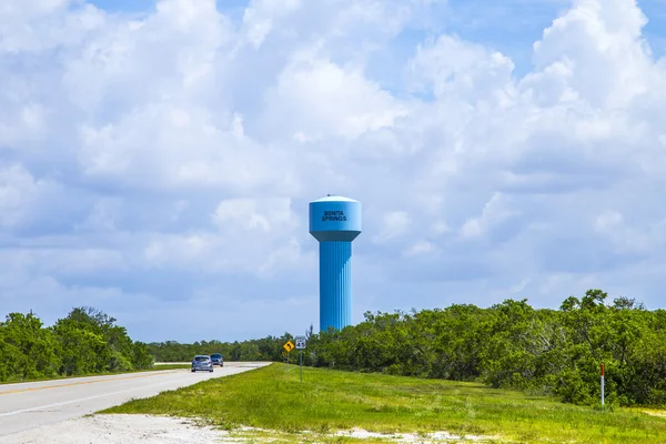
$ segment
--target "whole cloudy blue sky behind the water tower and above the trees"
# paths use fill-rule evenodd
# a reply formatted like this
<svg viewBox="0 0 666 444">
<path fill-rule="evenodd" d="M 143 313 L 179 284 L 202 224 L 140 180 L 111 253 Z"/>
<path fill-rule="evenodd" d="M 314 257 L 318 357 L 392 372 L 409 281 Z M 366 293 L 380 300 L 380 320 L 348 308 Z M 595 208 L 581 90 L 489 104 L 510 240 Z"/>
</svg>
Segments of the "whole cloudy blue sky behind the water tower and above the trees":
<svg viewBox="0 0 666 444">
<path fill-rule="evenodd" d="M 329 193 L 363 204 L 354 323 L 666 307 L 663 0 L 2 3 L 0 314 L 317 329 Z"/>
</svg>

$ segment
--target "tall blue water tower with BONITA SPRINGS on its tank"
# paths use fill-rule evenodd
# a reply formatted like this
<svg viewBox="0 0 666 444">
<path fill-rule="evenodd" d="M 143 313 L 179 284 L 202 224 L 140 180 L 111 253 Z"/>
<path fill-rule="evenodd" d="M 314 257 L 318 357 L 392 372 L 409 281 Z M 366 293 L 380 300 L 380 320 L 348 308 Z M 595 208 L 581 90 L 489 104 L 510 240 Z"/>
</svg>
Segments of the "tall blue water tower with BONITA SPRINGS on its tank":
<svg viewBox="0 0 666 444">
<path fill-rule="evenodd" d="M 361 202 L 340 195 L 310 202 L 310 234 L 320 242 L 320 330 L 352 323 L 352 241 L 361 234 Z"/>
</svg>

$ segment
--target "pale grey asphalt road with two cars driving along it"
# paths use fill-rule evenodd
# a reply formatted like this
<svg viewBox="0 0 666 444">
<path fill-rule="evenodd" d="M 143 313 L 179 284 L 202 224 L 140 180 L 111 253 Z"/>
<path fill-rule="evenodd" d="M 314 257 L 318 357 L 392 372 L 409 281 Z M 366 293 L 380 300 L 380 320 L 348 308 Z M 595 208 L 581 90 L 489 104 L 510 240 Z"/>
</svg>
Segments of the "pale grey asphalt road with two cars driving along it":
<svg viewBox="0 0 666 444">
<path fill-rule="evenodd" d="M 182 369 L 3 384 L 0 385 L 0 442 L 2 436 L 83 416 L 131 398 L 154 396 L 165 390 L 268 364 L 226 362 L 213 373 Z"/>
</svg>

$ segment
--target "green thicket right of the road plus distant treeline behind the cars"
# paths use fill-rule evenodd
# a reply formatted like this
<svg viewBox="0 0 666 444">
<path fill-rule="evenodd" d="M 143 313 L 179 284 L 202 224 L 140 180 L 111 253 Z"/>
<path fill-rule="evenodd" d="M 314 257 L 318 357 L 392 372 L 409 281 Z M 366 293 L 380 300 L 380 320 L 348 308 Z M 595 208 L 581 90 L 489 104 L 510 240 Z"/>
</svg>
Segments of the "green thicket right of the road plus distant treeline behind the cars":
<svg viewBox="0 0 666 444">
<path fill-rule="evenodd" d="M 488 309 L 451 305 L 411 313 L 365 313 L 341 332 L 306 336 L 305 365 L 393 375 L 480 381 L 495 389 L 598 404 L 599 367 L 606 367 L 606 403 L 666 405 L 666 311 L 589 290 L 559 310 L 526 300 Z M 293 336 L 242 343 L 149 344 L 159 361 L 220 351 L 229 361 L 280 361 Z M 295 353 L 292 352 L 292 356 Z M 292 357 L 295 361 L 295 356 Z"/>
</svg>

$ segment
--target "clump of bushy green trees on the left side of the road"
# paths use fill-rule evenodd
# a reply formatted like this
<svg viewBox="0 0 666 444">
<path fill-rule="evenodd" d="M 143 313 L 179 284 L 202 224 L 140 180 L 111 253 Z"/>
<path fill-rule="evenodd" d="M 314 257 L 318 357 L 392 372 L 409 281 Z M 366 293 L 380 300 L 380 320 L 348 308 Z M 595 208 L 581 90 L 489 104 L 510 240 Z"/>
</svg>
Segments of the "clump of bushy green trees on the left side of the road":
<svg viewBox="0 0 666 444">
<path fill-rule="evenodd" d="M 149 369 L 148 346 L 130 339 L 115 319 L 73 309 L 52 326 L 32 312 L 0 322 L 0 382 Z"/>
</svg>

